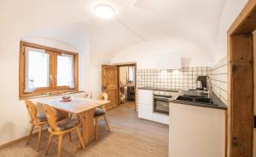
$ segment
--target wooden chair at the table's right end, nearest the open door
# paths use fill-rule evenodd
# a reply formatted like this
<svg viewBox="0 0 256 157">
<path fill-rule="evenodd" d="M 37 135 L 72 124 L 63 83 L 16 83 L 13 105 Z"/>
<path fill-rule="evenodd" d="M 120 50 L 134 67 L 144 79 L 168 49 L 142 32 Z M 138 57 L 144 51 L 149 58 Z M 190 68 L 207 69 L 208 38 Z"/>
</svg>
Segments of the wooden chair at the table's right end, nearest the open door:
<svg viewBox="0 0 256 157">
<path fill-rule="evenodd" d="M 100 96 L 98 96 L 98 100 L 103 100 L 104 96 L 101 94 Z M 100 118 L 104 118 L 106 125 L 107 125 L 107 130 L 110 131 L 109 125 L 108 125 L 108 121 L 106 118 L 106 112 L 107 109 L 105 106 L 102 106 L 102 108 L 96 108 L 95 112 L 94 112 L 94 118 L 95 118 L 95 131 L 96 131 L 96 140 L 98 140 L 99 137 L 99 133 L 98 133 L 98 119 Z"/>
</svg>

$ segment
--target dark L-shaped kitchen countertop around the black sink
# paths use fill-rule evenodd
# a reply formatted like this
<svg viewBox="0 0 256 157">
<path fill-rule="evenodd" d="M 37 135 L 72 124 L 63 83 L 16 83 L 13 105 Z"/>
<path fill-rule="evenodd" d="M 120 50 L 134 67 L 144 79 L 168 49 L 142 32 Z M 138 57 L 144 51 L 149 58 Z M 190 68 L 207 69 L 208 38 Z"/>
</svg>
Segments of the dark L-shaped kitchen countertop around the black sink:
<svg viewBox="0 0 256 157">
<path fill-rule="evenodd" d="M 190 95 L 190 96 L 205 96 L 204 93 L 198 92 L 197 90 L 173 90 L 173 89 L 165 89 L 165 88 L 154 88 L 150 86 L 140 87 L 139 90 L 158 90 L 158 91 L 171 91 L 176 92 L 175 96 L 172 96 L 172 99 L 170 102 L 179 103 L 181 105 L 190 105 L 190 106 L 196 106 L 196 107 L 203 107 L 203 108 L 216 108 L 216 109 L 227 109 L 227 106 L 218 98 L 218 96 L 215 95 L 214 92 L 212 92 L 212 104 L 210 103 L 204 103 L 204 102 L 190 102 L 190 101 L 183 101 L 183 100 L 177 100 L 177 96 L 184 96 L 184 95 Z"/>
</svg>

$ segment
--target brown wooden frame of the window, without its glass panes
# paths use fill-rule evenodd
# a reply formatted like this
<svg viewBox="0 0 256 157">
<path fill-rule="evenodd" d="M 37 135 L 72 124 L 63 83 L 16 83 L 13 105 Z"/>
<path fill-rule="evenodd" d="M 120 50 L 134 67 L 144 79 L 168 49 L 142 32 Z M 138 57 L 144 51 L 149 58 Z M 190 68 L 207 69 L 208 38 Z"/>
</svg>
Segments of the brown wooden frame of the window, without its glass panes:
<svg viewBox="0 0 256 157">
<path fill-rule="evenodd" d="M 33 92 L 25 92 L 26 86 L 26 47 L 34 49 L 44 49 L 45 53 L 49 54 L 49 87 L 37 88 Z M 57 86 L 57 55 L 67 54 L 73 55 L 73 82 L 74 88 L 70 89 L 68 86 Z M 20 69 L 19 69 L 19 96 L 20 99 L 32 98 L 33 96 L 44 96 L 46 93 L 54 95 L 54 93 L 61 93 L 67 91 L 79 91 L 79 54 L 62 49 L 50 48 L 47 46 L 27 43 L 20 41 Z"/>
</svg>

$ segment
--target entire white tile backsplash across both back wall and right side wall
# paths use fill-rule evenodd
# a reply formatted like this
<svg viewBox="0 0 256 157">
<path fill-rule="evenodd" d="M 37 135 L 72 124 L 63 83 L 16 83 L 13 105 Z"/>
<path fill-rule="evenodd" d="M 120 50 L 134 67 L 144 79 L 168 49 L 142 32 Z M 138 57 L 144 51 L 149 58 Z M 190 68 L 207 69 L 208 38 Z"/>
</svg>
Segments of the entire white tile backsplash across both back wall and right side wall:
<svg viewBox="0 0 256 157">
<path fill-rule="evenodd" d="M 188 90 L 196 88 L 196 78 L 207 75 L 212 78 L 212 91 L 227 104 L 227 58 L 213 67 L 183 67 L 182 69 L 137 69 L 137 88 Z"/>
</svg>

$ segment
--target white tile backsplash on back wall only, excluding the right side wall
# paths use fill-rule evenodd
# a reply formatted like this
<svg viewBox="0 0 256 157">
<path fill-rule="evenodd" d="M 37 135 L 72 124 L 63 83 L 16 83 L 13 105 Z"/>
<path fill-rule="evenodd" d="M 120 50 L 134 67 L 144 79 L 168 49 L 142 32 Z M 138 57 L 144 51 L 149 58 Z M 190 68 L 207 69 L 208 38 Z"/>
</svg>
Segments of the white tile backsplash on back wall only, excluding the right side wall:
<svg viewBox="0 0 256 157">
<path fill-rule="evenodd" d="M 137 69 L 137 87 L 145 84 L 154 88 L 188 90 L 196 88 L 196 78 L 211 75 L 212 67 L 184 67 L 182 69 Z"/>
</svg>

